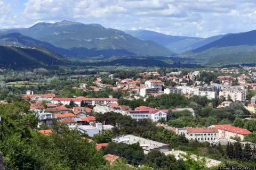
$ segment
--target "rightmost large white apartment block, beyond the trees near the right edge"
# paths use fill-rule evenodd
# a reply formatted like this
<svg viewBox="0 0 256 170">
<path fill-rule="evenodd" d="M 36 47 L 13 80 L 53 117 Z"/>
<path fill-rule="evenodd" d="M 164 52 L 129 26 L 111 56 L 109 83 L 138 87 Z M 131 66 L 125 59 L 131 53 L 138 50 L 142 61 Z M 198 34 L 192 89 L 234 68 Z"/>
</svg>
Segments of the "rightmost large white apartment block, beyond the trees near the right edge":
<svg viewBox="0 0 256 170">
<path fill-rule="evenodd" d="M 247 90 L 223 90 L 219 92 L 219 96 L 224 96 L 226 99 L 228 95 L 233 101 L 245 101 Z"/>
</svg>

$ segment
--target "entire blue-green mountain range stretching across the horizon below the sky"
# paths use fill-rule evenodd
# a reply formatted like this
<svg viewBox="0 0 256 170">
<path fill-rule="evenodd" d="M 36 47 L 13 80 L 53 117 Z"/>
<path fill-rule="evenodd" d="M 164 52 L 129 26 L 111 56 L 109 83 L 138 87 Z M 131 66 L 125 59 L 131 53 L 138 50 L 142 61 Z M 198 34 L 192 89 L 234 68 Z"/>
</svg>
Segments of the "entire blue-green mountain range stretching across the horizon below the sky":
<svg viewBox="0 0 256 170">
<path fill-rule="evenodd" d="M 179 55 L 175 57 L 189 58 L 188 63 L 194 60 L 211 65 L 239 64 L 244 63 L 245 59 L 254 61 L 256 30 L 198 38 L 169 36 L 148 30 L 120 31 L 102 27 L 100 24 L 71 21 L 41 22 L 30 28 L 0 29 L 0 45 L 3 45 L 0 51 L 2 63 L 14 63 L 24 57 L 25 61 L 45 61 L 43 58 L 38 60 L 39 58 L 31 56 L 37 50 L 39 56 L 49 54 L 49 60 L 57 61 L 63 60 L 62 56 L 138 57 L 174 56 L 177 53 Z M 13 56 L 8 58 L 9 53 L 6 50 L 12 50 L 13 54 L 18 53 L 18 60 L 12 58 Z"/>
</svg>

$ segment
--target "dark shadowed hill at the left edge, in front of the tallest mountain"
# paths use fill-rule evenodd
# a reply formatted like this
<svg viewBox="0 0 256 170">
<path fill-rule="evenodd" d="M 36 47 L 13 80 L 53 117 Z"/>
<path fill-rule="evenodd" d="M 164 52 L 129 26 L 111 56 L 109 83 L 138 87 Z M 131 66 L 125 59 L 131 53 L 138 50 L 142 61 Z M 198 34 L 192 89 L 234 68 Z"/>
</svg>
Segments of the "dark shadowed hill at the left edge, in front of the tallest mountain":
<svg viewBox="0 0 256 170">
<path fill-rule="evenodd" d="M 0 46 L 0 64 L 51 65 L 61 64 L 64 57 L 39 46 Z"/>
</svg>

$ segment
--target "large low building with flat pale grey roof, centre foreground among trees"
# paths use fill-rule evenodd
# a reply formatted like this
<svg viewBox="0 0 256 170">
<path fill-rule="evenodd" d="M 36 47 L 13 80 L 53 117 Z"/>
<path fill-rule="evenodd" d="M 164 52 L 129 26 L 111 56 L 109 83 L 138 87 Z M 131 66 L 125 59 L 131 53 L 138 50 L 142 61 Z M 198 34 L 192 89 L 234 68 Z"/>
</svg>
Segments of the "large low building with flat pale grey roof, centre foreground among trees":
<svg viewBox="0 0 256 170">
<path fill-rule="evenodd" d="M 134 136 L 131 134 L 122 135 L 122 136 L 113 138 L 112 140 L 117 143 L 123 142 L 123 143 L 127 143 L 127 144 L 134 144 L 134 143 L 139 142 L 139 144 L 142 147 L 142 149 L 144 150 L 145 154 L 147 154 L 148 152 L 150 152 L 151 150 L 154 150 L 154 149 L 159 150 L 161 152 L 169 151 L 169 145 L 167 145 L 165 143 L 156 142 L 154 140 L 137 137 L 137 136 Z"/>
</svg>

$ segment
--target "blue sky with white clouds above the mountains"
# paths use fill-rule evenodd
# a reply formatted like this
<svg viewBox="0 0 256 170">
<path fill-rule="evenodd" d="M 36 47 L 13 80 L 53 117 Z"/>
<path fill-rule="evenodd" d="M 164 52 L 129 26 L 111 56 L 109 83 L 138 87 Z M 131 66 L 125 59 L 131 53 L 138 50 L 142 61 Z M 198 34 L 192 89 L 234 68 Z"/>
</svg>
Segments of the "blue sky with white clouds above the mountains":
<svg viewBox="0 0 256 170">
<path fill-rule="evenodd" d="M 256 0 L 0 0 L 0 28 L 62 20 L 210 37 L 256 29 Z"/>
</svg>

